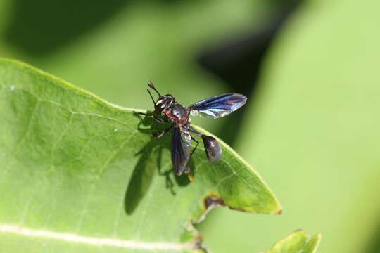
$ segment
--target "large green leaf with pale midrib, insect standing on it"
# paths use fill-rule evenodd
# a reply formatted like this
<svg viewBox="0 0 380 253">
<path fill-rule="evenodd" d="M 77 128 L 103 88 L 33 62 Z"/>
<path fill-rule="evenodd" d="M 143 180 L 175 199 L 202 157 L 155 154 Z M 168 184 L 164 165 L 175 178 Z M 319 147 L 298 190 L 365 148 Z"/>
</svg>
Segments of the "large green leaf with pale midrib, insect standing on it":
<svg viewBox="0 0 380 253">
<path fill-rule="evenodd" d="M 184 251 L 217 204 L 281 212 L 222 141 L 216 164 L 196 150 L 189 183 L 172 173 L 170 136 L 151 137 L 162 126 L 23 63 L 0 60 L 0 117 L 2 252 Z"/>
</svg>

